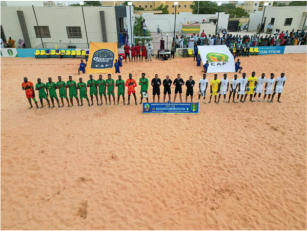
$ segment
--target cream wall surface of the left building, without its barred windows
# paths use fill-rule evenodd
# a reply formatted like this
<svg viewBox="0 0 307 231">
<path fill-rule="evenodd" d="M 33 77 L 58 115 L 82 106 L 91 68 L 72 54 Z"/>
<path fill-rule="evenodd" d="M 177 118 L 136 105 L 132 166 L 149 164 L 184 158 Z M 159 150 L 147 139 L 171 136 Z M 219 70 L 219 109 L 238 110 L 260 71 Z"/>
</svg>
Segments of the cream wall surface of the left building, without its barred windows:
<svg viewBox="0 0 307 231">
<path fill-rule="evenodd" d="M 49 27 L 51 37 L 43 38 L 44 43 L 87 43 L 81 7 L 34 7 L 34 9 L 38 25 Z M 84 7 L 83 9 L 89 42 L 103 41 L 99 11 L 105 12 L 108 42 L 117 41 L 114 7 Z M 7 39 L 10 36 L 16 41 L 19 38 L 24 39 L 16 13 L 17 10 L 24 12 L 31 45 L 35 48 L 42 42 L 35 35 L 36 21 L 32 7 L 1 7 L 1 25 L 4 33 Z M 127 17 L 126 24 L 129 25 L 130 29 L 130 17 Z M 68 38 L 67 26 L 81 27 L 82 38 Z"/>
</svg>

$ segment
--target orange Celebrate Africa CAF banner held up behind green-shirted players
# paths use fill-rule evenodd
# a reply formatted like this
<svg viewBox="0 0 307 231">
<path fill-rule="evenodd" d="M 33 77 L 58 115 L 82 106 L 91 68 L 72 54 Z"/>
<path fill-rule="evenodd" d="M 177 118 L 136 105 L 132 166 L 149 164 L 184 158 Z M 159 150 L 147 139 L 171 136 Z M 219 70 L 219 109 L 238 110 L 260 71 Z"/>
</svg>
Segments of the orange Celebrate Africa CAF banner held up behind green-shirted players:
<svg viewBox="0 0 307 231">
<path fill-rule="evenodd" d="M 118 59 L 117 43 L 92 43 L 85 69 L 86 73 L 115 73 L 115 59 Z"/>
</svg>

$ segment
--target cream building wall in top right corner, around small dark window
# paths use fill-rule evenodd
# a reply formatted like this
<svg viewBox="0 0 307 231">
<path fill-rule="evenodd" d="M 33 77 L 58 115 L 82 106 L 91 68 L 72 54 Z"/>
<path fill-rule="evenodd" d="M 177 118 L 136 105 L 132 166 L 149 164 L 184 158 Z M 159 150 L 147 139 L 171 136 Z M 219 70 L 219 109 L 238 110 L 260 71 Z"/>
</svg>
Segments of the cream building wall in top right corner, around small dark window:
<svg viewBox="0 0 307 231">
<path fill-rule="evenodd" d="M 264 17 L 267 17 L 264 28 L 267 28 L 268 24 L 271 23 L 271 18 L 275 18 L 275 23 L 271 27 L 273 32 L 275 29 L 288 30 L 289 32 L 293 29 L 295 31 L 301 30 L 306 11 L 306 7 L 267 7 L 264 12 Z M 285 18 L 293 18 L 291 26 L 284 26 Z"/>
</svg>

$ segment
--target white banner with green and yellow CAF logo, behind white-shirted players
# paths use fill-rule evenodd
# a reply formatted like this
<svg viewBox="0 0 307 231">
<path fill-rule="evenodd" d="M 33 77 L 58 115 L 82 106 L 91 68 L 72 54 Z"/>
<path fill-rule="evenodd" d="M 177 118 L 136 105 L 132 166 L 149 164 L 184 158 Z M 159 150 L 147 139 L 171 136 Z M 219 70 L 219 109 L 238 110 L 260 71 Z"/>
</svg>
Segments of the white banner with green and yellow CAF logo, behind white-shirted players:
<svg viewBox="0 0 307 231">
<path fill-rule="evenodd" d="M 235 61 L 226 45 L 197 46 L 202 63 L 209 61 L 208 73 L 235 72 Z"/>
</svg>

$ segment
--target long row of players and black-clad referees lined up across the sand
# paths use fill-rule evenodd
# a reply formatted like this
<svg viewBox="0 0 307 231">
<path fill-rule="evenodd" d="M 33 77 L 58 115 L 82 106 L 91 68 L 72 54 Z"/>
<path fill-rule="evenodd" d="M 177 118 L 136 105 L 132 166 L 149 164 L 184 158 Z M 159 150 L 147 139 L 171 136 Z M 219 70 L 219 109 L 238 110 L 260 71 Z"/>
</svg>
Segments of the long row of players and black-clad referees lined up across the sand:
<svg viewBox="0 0 307 231">
<path fill-rule="evenodd" d="M 260 96 L 263 91 L 263 86 L 265 83 L 264 87 L 264 98 L 263 102 L 265 101 L 265 97 L 268 95 L 268 102 L 273 102 L 274 95 L 278 93 L 278 102 L 280 102 L 280 95 L 283 90 L 283 86 L 285 84 L 286 77 L 284 77 L 284 73 L 281 73 L 280 77 L 278 77 L 275 81 L 274 79 L 274 74 L 271 73 L 271 77 L 269 79 L 265 78 L 265 74 L 262 73 L 261 77 L 256 77 L 255 72 L 252 72 L 252 76 L 249 78 L 246 78 L 246 74 L 243 73 L 242 77 L 240 79 L 237 78 L 237 75 L 234 75 L 234 79 L 231 80 L 229 83 L 229 79 L 227 78 L 227 74 L 223 75 L 222 79 L 217 78 L 217 74 L 214 75 L 214 79 L 211 80 L 210 82 L 210 101 L 212 96 L 215 98 L 215 102 L 219 103 L 221 95 L 223 95 L 224 102 L 226 101 L 226 94 L 229 90 L 230 86 L 230 95 L 228 102 L 231 100 L 231 96 L 233 96 L 233 102 L 237 103 L 239 100 L 239 97 L 241 96 L 240 101 L 245 102 L 245 99 L 247 98 L 248 95 L 250 95 L 250 101 L 254 102 L 256 95 L 258 94 L 258 101 L 260 101 Z M 148 87 L 149 87 L 149 80 L 148 78 L 145 77 L 145 73 L 142 73 L 142 77 L 139 79 L 139 85 L 141 86 L 140 89 L 140 104 L 142 103 L 142 99 L 145 95 L 148 94 Z M 275 86 L 274 86 L 275 83 Z M 175 85 L 175 95 L 174 95 L 174 102 L 176 101 L 177 94 L 179 93 L 179 98 L 180 102 L 182 102 L 181 94 L 182 94 L 182 86 L 185 85 L 187 87 L 187 92 L 186 92 L 186 102 L 188 101 L 188 96 L 191 96 L 191 102 L 193 102 L 193 89 L 195 86 L 195 81 L 193 80 L 193 76 L 190 76 L 189 80 L 186 82 L 183 81 L 183 79 L 180 77 L 180 74 L 177 75 L 177 78 L 174 80 L 174 82 L 170 79 L 170 76 L 167 75 L 166 79 L 161 82 L 160 78 L 158 78 L 158 75 L 155 75 L 155 78 L 152 79 L 151 85 L 153 87 L 153 102 L 155 102 L 155 96 L 157 95 L 158 102 L 160 102 L 160 86 L 163 85 L 164 91 L 163 91 L 163 102 L 165 102 L 166 95 L 168 94 L 169 101 L 171 102 L 171 86 Z M 273 90 L 274 86 L 274 90 Z M 43 83 L 41 82 L 40 78 L 37 79 L 37 83 L 35 86 L 35 89 L 38 90 L 38 96 L 40 103 L 43 105 L 43 99 L 46 99 L 48 102 L 48 106 L 50 108 L 50 101 L 48 99 L 48 96 L 51 99 L 51 102 L 53 104 L 54 108 L 54 99 L 57 101 L 58 107 L 59 106 L 59 100 L 56 94 L 56 90 L 58 89 L 59 91 L 59 97 L 62 101 L 62 107 L 64 107 L 64 98 L 66 98 L 68 107 L 73 107 L 73 98 L 76 99 L 78 106 L 79 104 L 79 99 L 78 99 L 78 90 L 79 90 L 79 97 L 81 101 L 81 106 L 83 106 L 83 99 L 87 99 L 88 105 L 91 106 L 93 105 L 93 96 L 96 97 L 97 105 L 101 106 L 103 104 L 103 95 L 106 100 L 106 104 L 108 105 L 107 101 L 107 94 L 109 96 L 109 104 L 111 104 L 111 95 L 113 97 L 113 103 L 115 104 L 115 94 L 114 94 L 114 89 L 117 87 L 117 105 L 119 103 L 119 98 L 122 96 L 122 99 L 124 101 L 125 105 L 125 87 L 128 87 L 128 105 L 130 104 L 130 96 L 131 94 L 134 96 L 135 99 L 135 104 L 137 105 L 136 102 L 136 95 L 135 95 L 135 87 L 137 87 L 136 81 L 132 78 L 132 74 L 129 74 L 129 79 L 124 80 L 121 79 L 121 75 L 118 75 L 118 79 L 116 82 L 114 79 L 111 78 L 111 74 L 108 74 L 108 79 L 104 80 L 102 75 L 99 75 L 99 79 L 95 80 L 93 79 L 93 76 L 90 75 L 90 79 L 87 81 L 87 84 L 83 82 L 82 78 L 79 78 L 79 82 L 76 84 L 74 80 L 72 80 L 72 76 L 69 76 L 69 80 L 65 83 L 65 81 L 62 81 L 62 77 L 58 76 L 58 82 L 52 82 L 52 78 L 48 78 L 48 82 Z M 33 88 L 33 83 L 29 82 L 27 77 L 24 78 L 24 82 L 22 84 L 23 90 L 26 90 L 26 96 L 29 100 L 30 106 L 32 108 L 32 103 L 30 98 L 33 99 L 33 101 L 36 104 L 36 107 L 38 108 L 36 99 L 35 99 L 35 92 Z M 90 104 L 88 94 L 87 94 L 87 88 L 90 88 L 90 96 L 91 96 L 91 101 L 92 104 Z M 200 97 L 203 97 L 203 102 L 206 98 L 206 92 L 208 88 L 208 80 L 206 79 L 206 74 L 203 74 L 202 79 L 199 81 L 199 92 L 198 92 L 198 100 L 200 100 Z M 69 98 L 70 98 L 70 103 L 67 97 L 67 89 L 69 89 Z M 238 89 L 238 92 L 237 92 Z M 46 92 L 46 91 L 47 92 Z M 108 93 L 106 93 L 108 92 Z M 237 92 L 237 101 L 235 101 L 235 94 Z M 99 104 L 98 102 L 98 93 L 100 96 L 100 101 L 101 103 Z M 145 94 L 145 95 L 144 95 Z M 217 100 L 217 94 L 218 100 Z M 273 94 L 273 95 L 272 95 Z M 272 95 L 272 99 L 270 100 L 270 97 Z M 244 96 L 244 99 L 243 99 Z M 253 97 L 254 96 L 254 97 Z M 254 98 L 254 99 L 253 99 Z M 148 102 L 148 97 L 146 97 L 147 102 Z M 204 102 L 205 103 L 205 102 Z"/>
</svg>

